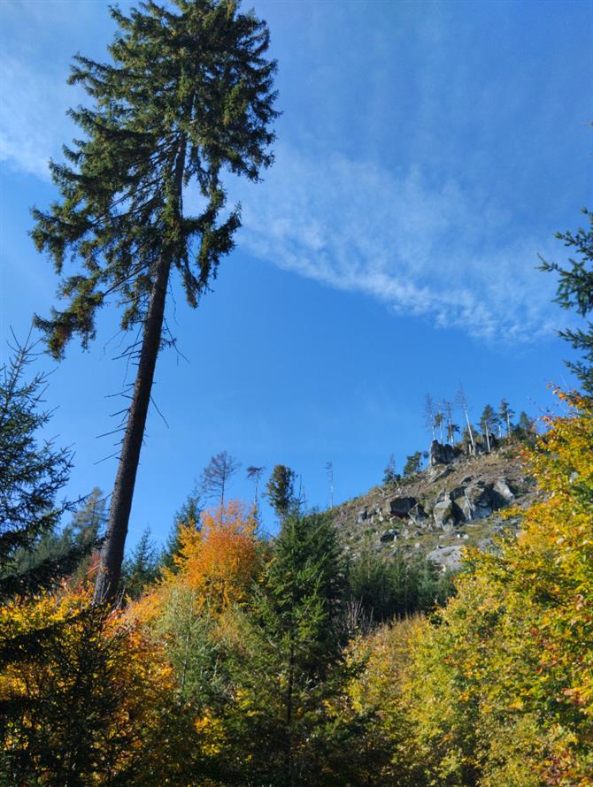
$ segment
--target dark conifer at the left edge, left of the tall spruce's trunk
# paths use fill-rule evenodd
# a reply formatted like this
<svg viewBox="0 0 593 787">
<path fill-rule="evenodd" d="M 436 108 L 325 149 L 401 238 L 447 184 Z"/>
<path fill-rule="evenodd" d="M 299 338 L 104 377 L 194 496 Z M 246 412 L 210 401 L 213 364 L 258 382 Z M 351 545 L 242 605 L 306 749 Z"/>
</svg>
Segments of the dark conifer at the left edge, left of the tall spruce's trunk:
<svg viewBox="0 0 593 787">
<path fill-rule="evenodd" d="M 29 559 L 55 533 L 73 503 L 58 502 L 72 467 L 72 453 L 39 436 L 50 421 L 41 409 L 44 374 L 26 379 L 34 360 L 30 344 L 14 349 L 0 370 L 0 600 L 35 593 L 70 574 L 91 542 L 67 545 Z"/>
</svg>

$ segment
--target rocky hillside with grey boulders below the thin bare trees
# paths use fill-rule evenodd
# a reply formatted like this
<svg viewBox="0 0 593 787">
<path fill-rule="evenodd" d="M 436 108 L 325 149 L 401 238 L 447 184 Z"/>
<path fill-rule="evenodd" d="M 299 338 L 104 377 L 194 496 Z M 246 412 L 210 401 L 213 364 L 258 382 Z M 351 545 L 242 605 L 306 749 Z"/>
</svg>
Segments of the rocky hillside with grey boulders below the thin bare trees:
<svg viewBox="0 0 593 787">
<path fill-rule="evenodd" d="M 517 531 L 520 517 L 504 508 L 527 508 L 538 494 L 516 443 L 466 455 L 434 441 L 426 470 L 333 509 L 346 553 L 421 550 L 447 569 L 458 569 L 464 546 L 494 547 L 494 537 Z"/>
</svg>

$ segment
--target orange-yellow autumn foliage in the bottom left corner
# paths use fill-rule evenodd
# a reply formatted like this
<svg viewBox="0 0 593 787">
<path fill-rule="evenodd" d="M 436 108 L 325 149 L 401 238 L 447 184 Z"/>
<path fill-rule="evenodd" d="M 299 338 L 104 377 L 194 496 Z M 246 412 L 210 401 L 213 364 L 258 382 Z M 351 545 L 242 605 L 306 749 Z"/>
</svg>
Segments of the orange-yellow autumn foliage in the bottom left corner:
<svg viewBox="0 0 593 787">
<path fill-rule="evenodd" d="M 0 611 L 5 783 L 177 783 L 188 725 L 173 669 L 137 626 L 89 600 L 64 590 Z M 36 630 L 40 647 L 20 653 Z"/>
</svg>

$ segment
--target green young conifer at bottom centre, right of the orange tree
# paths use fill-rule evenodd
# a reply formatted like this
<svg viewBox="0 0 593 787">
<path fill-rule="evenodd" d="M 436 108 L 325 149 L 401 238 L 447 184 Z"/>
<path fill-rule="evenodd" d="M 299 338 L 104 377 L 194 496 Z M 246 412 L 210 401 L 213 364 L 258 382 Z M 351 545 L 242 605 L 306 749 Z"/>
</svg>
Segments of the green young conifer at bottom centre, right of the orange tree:
<svg viewBox="0 0 593 787">
<path fill-rule="evenodd" d="M 325 700 L 343 686 L 342 605 L 334 525 L 322 514 L 290 513 L 235 665 L 242 698 L 234 733 L 243 753 L 241 783 L 324 783 Z"/>
</svg>

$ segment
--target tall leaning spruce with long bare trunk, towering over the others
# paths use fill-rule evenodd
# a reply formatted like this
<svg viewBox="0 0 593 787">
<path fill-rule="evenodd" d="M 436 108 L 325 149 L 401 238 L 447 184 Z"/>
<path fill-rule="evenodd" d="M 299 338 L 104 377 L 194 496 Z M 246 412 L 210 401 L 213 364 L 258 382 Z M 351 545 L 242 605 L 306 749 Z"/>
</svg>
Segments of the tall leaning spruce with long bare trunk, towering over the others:
<svg viewBox="0 0 593 787">
<path fill-rule="evenodd" d="M 275 62 L 266 59 L 266 23 L 240 13 L 235 0 L 173 0 L 141 4 L 129 16 L 112 8 L 119 27 L 111 64 L 80 55 L 70 76 L 91 106 L 70 111 L 82 139 L 65 148 L 67 164 L 51 163 L 61 199 L 34 210 L 33 238 L 53 259 L 68 303 L 36 318 L 50 352 L 61 358 L 79 334 L 95 337 L 95 320 L 110 296 L 123 309 L 123 330 L 141 339 L 97 577 L 96 600 L 112 599 L 119 583 L 135 476 L 150 402 L 166 293 L 173 274 L 192 307 L 233 248 L 239 209 L 225 215 L 222 173 L 258 180 L 272 163 L 269 145 Z M 184 189 L 202 195 L 194 215 Z"/>
</svg>

